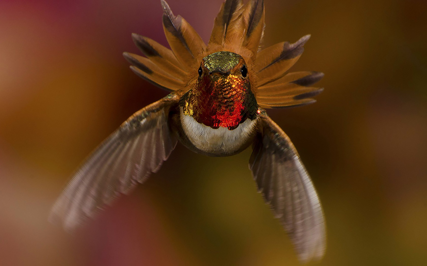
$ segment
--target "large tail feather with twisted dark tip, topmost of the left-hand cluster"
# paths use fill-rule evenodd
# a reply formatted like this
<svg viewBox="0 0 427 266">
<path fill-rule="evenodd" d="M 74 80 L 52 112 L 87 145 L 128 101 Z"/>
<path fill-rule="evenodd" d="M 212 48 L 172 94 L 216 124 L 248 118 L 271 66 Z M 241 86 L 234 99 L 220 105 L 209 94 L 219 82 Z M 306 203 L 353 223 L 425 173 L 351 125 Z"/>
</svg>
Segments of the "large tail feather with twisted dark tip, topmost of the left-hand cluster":
<svg viewBox="0 0 427 266">
<path fill-rule="evenodd" d="M 198 56 L 206 50 L 206 45 L 185 19 L 180 15 L 173 15 L 166 1 L 161 0 L 161 2 L 164 10 L 163 28 L 167 42 L 182 66 L 192 69 L 200 63 L 197 62 Z"/>
</svg>

